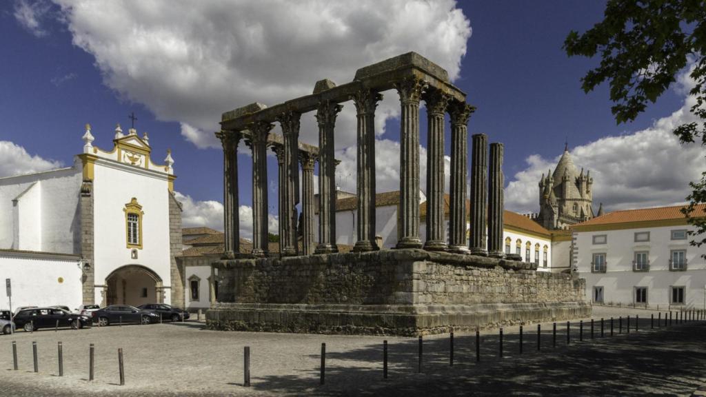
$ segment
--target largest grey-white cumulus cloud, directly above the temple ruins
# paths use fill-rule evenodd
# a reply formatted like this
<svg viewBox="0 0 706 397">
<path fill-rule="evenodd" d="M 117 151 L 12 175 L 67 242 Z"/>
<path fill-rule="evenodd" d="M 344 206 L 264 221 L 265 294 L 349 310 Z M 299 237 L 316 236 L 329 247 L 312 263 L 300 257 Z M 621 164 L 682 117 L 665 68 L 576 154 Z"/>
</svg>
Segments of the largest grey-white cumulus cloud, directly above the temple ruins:
<svg viewBox="0 0 706 397">
<path fill-rule="evenodd" d="M 360 66 L 404 52 L 433 59 L 455 79 L 471 34 L 454 0 L 54 1 L 104 83 L 157 118 L 181 122 L 182 136 L 200 148 L 217 146 L 222 112 L 307 95 L 322 78 L 346 83 Z M 378 134 L 397 115 L 396 102 L 392 93 L 378 107 Z M 347 103 L 338 149 L 354 145 L 354 125 Z M 316 143 L 317 131 L 305 114 L 302 141 Z"/>
</svg>

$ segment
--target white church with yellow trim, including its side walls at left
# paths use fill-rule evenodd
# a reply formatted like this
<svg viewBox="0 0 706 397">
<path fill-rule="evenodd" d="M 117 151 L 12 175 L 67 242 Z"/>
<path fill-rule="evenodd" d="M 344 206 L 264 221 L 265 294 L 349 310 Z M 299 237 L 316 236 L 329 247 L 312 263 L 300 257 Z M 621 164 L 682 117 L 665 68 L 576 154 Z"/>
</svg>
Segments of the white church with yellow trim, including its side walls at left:
<svg viewBox="0 0 706 397">
<path fill-rule="evenodd" d="M 183 306 L 171 154 L 152 162 L 147 134 L 120 126 L 110 150 L 88 125 L 83 141 L 71 167 L 0 178 L 0 278 L 13 306 Z"/>
</svg>

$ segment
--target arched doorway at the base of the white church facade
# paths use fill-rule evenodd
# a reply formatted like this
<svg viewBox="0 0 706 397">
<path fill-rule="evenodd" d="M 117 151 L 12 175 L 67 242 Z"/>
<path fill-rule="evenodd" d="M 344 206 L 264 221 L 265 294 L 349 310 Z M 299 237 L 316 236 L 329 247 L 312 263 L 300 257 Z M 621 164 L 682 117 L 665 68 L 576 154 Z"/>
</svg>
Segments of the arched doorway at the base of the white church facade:
<svg viewBox="0 0 706 397">
<path fill-rule="evenodd" d="M 139 306 L 162 303 L 162 278 L 149 268 L 127 265 L 114 270 L 105 279 L 108 286 L 106 304 Z"/>
</svg>

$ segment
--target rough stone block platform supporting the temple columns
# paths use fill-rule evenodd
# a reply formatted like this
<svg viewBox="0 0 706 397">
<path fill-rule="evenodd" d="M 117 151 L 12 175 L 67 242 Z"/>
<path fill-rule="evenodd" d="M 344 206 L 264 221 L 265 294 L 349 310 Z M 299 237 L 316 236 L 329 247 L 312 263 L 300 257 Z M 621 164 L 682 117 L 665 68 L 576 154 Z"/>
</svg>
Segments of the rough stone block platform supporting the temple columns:
<svg viewBox="0 0 706 397">
<path fill-rule="evenodd" d="M 585 283 L 417 249 L 215 263 L 212 329 L 417 336 L 590 316 Z M 222 301 L 229 302 L 222 302 Z"/>
</svg>

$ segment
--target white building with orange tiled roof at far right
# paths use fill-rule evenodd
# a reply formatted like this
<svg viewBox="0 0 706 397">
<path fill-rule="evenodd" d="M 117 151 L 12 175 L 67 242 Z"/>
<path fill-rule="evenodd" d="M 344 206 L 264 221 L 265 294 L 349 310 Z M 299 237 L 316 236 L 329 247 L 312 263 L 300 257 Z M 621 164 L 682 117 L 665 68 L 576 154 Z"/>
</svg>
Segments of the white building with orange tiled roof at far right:
<svg viewBox="0 0 706 397">
<path fill-rule="evenodd" d="M 689 244 L 695 227 L 681 208 L 615 211 L 573 226 L 574 267 L 592 302 L 706 308 L 706 247 Z"/>
</svg>

